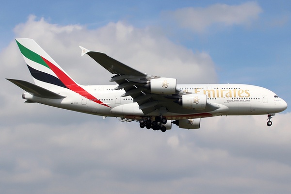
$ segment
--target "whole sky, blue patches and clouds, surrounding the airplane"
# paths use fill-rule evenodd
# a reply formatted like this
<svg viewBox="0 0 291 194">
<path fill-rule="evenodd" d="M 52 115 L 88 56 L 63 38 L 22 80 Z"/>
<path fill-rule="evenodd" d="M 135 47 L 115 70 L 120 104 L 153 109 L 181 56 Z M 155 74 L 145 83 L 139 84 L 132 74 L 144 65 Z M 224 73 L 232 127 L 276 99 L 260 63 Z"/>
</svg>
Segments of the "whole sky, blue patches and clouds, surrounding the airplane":
<svg viewBox="0 0 291 194">
<path fill-rule="evenodd" d="M 291 113 L 201 120 L 162 133 L 26 104 L 15 38 L 33 38 L 81 84 L 112 76 L 81 45 L 178 83 L 245 83 L 291 104 L 291 2 L 7 1 L 0 7 L 0 193 L 289 193 Z"/>
</svg>

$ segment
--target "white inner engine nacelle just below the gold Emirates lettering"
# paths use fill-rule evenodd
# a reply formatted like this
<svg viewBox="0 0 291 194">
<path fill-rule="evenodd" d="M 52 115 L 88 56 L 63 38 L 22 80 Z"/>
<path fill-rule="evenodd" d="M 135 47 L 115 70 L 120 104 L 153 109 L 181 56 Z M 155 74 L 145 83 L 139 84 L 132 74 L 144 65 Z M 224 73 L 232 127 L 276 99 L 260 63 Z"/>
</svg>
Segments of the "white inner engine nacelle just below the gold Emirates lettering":
<svg viewBox="0 0 291 194">
<path fill-rule="evenodd" d="M 206 108 L 207 95 L 186 94 L 179 99 L 179 105 L 185 109 L 203 110 Z"/>
</svg>

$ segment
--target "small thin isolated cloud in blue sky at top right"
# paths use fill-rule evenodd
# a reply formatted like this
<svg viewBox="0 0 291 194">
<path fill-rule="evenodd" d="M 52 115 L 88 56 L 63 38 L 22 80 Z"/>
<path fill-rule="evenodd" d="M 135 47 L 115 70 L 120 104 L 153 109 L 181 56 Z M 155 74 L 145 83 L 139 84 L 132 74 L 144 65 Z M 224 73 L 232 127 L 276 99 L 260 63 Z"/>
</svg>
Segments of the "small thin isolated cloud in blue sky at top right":
<svg viewBox="0 0 291 194">
<path fill-rule="evenodd" d="M 262 9 L 257 2 L 240 5 L 214 4 L 206 8 L 187 7 L 165 14 L 179 26 L 193 32 L 205 32 L 210 26 L 249 25 L 256 20 Z"/>
</svg>

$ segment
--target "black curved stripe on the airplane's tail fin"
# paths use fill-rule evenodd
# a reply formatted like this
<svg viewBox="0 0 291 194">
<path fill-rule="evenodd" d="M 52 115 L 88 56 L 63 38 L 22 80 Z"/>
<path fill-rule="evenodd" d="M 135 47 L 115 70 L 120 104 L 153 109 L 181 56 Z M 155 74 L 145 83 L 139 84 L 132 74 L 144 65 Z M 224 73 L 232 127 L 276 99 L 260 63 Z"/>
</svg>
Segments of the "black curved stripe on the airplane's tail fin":
<svg viewBox="0 0 291 194">
<path fill-rule="evenodd" d="M 26 64 L 27 65 L 27 64 Z M 58 86 L 61 86 L 61 87 L 64 87 L 64 88 L 67 88 L 65 86 L 65 84 L 58 78 L 48 74 L 48 73 L 45 73 L 45 72 L 42 72 L 42 71 L 38 71 L 34 68 L 32 68 L 31 66 L 27 65 L 28 66 L 28 69 L 29 71 L 31 72 L 32 74 L 32 77 L 36 80 L 39 80 L 39 81 L 44 81 L 44 82 L 47 82 L 47 83 L 51 83 L 51 84 L 54 84 L 54 85 L 58 85 Z"/>
</svg>

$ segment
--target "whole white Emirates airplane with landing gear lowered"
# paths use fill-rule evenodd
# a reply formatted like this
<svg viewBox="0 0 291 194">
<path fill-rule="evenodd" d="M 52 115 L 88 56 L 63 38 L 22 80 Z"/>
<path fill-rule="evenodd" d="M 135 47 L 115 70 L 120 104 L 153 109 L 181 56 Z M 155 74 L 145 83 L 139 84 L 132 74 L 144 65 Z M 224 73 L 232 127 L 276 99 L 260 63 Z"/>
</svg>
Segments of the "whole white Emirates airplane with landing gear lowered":
<svg viewBox="0 0 291 194">
<path fill-rule="evenodd" d="M 33 39 L 17 38 L 16 43 L 32 75 L 33 83 L 7 79 L 25 92 L 25 102 L 68 109 L 121 122 L 139 122 L 140 128 L 165 132 L 176 124 L 182 129 L 199 129 L 201 118 L 227 115 L 267 115 L 272 125 L 275 113 L 287 103 L 274 92 L 246 84 L 177 84 L 174 78 L 148 75 L 108 55 L 81 46 L 113 74 L 115 85 L 80 85 Z"/>
</svg>

